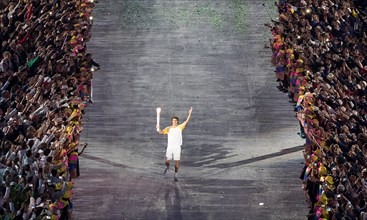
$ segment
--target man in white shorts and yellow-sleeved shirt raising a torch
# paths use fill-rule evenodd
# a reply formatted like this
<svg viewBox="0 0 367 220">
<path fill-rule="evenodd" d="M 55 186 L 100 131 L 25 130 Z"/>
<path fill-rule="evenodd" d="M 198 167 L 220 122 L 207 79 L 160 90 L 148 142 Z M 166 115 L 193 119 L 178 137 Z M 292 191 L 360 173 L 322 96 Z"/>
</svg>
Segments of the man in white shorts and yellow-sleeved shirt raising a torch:
<svg viewBox="0 0 367 220">
<path fill-rule="evenodd" d="M 192 107 L 189 109 L 189 114 L 187 116 L 186 121 L 181 124 L 178 124 L 178 117 L 174 116 L 171 119 L 172 125 L 166 127 L 161 130 L 159 125 L 159 116 L 160 116 L 160 108 L 157 108 L 157 132 L 159 134 L 165 134 L 168 136 L 167 142 L 167 150 L 166 150 L 166 169 L 164 170 L 164 174 L 166 174 L 169 170 L 170 161 L 175 161 L 175 175 L 174 180 L 178 181 L 178 168 L 180 167 L 180 157 L 181 157 L 181 145 L 182 145 L 182 131 L 185 129 L 187 123 L 190 120 Z"/>
</svg>

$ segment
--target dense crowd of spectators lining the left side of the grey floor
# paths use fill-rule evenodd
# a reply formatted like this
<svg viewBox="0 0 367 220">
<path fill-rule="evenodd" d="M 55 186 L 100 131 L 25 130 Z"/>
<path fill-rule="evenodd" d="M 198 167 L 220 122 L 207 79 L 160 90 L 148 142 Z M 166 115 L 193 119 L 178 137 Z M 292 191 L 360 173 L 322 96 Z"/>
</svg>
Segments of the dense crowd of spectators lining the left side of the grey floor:
<svg viewBox="0 0 367 220">
<path fill-rule="evenodd" d="M 0 1 L 0 219 L 69 219 L 93 0 Z"/>
</svg>

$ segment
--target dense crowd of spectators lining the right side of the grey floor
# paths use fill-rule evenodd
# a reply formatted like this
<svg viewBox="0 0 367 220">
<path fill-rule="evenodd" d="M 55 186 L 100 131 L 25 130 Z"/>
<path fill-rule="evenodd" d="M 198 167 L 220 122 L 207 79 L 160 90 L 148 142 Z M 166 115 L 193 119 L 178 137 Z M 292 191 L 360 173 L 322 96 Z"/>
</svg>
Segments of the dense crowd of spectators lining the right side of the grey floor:
<svg viewBox="0 0 367 220">
<path fill-rule="evenodd" d="M 367 219 L 367 1 L 276 5 L 272 63 L 306 138 L 308 219 Z"/>
</svg>

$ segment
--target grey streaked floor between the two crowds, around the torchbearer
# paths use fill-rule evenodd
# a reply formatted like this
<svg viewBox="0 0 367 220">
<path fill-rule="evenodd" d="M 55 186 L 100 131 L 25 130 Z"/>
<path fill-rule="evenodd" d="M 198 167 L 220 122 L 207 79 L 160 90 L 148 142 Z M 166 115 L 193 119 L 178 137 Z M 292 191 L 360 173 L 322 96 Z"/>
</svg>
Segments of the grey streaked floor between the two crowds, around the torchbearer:
<svg viewBox="0 0 367 220">
<path fill-rule="evenodd" d="M 74 219 L 305 219 L 303 140 L 270 64 L 268 0 L 103 0 Z M 184 130 L 180 180 L 166 137 Z"/>
</svg>

